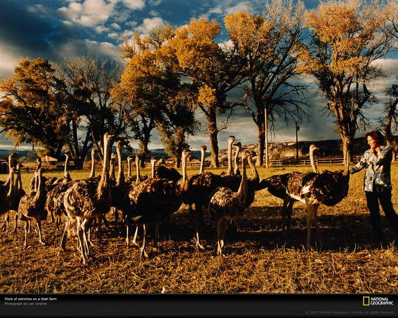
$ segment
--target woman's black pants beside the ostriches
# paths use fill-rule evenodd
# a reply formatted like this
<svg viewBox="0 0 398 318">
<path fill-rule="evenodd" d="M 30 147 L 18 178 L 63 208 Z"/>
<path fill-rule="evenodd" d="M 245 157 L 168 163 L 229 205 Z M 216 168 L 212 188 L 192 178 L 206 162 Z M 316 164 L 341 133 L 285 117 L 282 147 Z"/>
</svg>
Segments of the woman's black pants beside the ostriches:
<svg viewBox="0 0 398 318">
<path fill-rule="evenodd" d="M 379 201 L 383 208 L 383 212 L 386 215 L 391 227 L 395 231 L 396 237 L 398 239 L 398 217 L 394 211 L 393 203 L 391 202 L 391 189 L 374 184 L 373 192 L 365 191 L 365 194 L 375 241 L 380 242 L 383 238 L 382 226 L 380 223 Z"/>
</svg>

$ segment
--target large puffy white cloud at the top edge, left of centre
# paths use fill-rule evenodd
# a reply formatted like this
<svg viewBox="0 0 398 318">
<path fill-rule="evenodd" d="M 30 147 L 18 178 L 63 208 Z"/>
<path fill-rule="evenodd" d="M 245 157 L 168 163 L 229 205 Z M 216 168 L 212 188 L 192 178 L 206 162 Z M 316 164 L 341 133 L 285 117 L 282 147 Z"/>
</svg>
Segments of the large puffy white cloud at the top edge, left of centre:
<svg viewBox="0 0 398 318">
<path fill-rule="evenodd" d="M 58 9 L 69 21 L 88 27 L 105 23 L 113 14 L 115 2 L 103 0 L 85 0 L 83 3 L 70 2 L 68 6 Z"/>
</svg>

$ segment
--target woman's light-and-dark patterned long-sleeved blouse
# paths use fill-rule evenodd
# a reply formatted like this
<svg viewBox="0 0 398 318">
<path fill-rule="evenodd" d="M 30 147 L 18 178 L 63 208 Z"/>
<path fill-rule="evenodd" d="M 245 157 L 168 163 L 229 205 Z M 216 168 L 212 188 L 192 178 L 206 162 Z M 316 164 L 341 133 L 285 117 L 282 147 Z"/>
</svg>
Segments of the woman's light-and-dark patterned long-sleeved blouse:
<svg viewBox="0 0 398 318">
<path fill-rule="evenodd" d="M 350 168 L 350 173 L 356 173 L 366 168 L 364 177 L 364 190 L 373 191 L 373 184 L 382 185 L 392 189 L 391 185 L 391 161 L 393 160 L 393 148 L 380 146 L 380 152 L 371 154 L 365 152 L 361 160 Z"/>
</svg>

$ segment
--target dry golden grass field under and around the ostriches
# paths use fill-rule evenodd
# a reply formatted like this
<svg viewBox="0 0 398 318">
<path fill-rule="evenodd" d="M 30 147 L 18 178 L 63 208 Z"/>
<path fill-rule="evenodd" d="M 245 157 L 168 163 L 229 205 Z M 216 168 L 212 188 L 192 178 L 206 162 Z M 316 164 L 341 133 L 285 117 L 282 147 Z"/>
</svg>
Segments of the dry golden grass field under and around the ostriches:
<svg viewBox="0 0 398 318">
<path fill-rule="evenodd" d="M 339 165 L 320 165 L 334 170 Z M 309 167 L 260 168 L 260 179 Z M 394 163 L 393 203 L 398 210 L 398 164 Z M 197 168 L 188 170 L 195 173 Z M 222 169 L 213 169 L 220 173 Z M 88 171 L 71 171 L 73 179 Z M 148 169 L 143 173 L 149 173 Z M 318 220 L 324 245 L 315 251 L 305 246 L 304 205 L 294 205 L 292 230 L 282 239 L 282 200 L 267 190 L 256 199 L 242 219 L 238 232 L 226 241 L 225 256 L 215 253 L 214 225 L 205 220 L 202 234 L 205 251 L 195 248 L 188 207 L 170 218 L 170 227 L 161 226 L 159 250 L 141 258 L 137 247 L 124 246 L 124 229 L 118 235 L 103 228 L 102 240 L 95 235 L 89 264 L 83 266 L 69 239 L 70 252 L 59 247 L 63 225 L 44 222 L 43 237 L 48 246 L 38 246 L 35 224 L 29 235 L 32 247 L 21 251 L 24 230 L 0 232 L 1 293 L 396 293 L 398 291 L 398 251 L 394 233 L 382 217 L 385 244 L 371 246 L 372 229 L 362 190 L 364 172 L 350 179 L 348 197 L 334 207 L 321 206 Z M 56 175 L 47 172 L 45 175 Z M 58 173 L 59 176 L 62 173 Z M 250 176 L 251 174 L 249 174 Z M 23 174 L 27 189 L 32 174 Z M 2 176 L 5 179 L 5 175 Z M 206 213 L 205 213 L 206 215 Z M 10 215 L 11 220 L 13 213 Z M 106 215 L 113 227 L 114 216 Z M 2 222 L 2 221 L 1 221 Z M 141 232 L 139 233 L 141 234 Z M 153 227 L 148 247 L 152 246 Z M 315 235 L 313 235 L 313 238 Z M 141 243 L 139 236 L 139 242 Z M 147 249 L 149 250 L 149 248 Z"/>
</svg>

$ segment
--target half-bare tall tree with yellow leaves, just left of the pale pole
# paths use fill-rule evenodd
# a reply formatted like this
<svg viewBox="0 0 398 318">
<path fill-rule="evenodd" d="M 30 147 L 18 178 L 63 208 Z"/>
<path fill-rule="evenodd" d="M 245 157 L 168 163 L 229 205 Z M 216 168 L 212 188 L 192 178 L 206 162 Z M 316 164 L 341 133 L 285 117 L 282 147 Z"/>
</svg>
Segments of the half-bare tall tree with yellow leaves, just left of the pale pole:
<svg viewBox="0 0 398 318">
<path fill-rule="evenodd" d="M 225 26 L 237 52 L 247 61 L 247 80 L 243 83 L 243 106 L 257 126 L 257 165 L 263 164 L 267 121 L 273 125 L 279 116 L 289 124 L 291 118 L 308 118 L 301 108 L 305 85 L 298 77 L 296 50 L 304 38 L 303 5 L 292 0 L 267 3 L 263 15 L 236 12 L 225 17 Z"/>
</svg>

